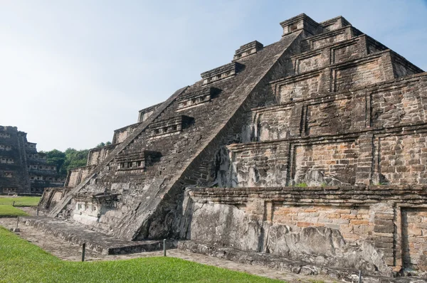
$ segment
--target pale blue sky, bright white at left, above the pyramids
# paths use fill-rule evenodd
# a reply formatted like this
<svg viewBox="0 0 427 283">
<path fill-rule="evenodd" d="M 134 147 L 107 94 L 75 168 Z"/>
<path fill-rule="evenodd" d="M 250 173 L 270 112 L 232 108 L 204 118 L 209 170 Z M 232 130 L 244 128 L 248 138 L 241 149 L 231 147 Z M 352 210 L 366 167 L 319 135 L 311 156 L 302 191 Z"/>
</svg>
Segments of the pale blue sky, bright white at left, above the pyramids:
<svg viewBox="0 0 427 283">
<path fill-rule="evenodd" d="M 427 1 L 0 0 L 0 125 L 38 149 L 91 148 L 280 21 L 342 15 L 427 70 Z"/>
</svg>

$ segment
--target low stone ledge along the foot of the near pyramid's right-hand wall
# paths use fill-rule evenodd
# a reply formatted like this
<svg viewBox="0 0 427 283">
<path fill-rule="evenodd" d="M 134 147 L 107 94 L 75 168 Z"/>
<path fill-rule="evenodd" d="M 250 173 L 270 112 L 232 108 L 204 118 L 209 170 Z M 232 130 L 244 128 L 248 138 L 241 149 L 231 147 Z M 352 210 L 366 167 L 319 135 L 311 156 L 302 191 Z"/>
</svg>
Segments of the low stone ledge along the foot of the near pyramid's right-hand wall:
<svg viewBox="0 0 427 283">
<path fill-rule="evenodd" d="M 292 272 L 295 274 L 304 275 L 324 275 L 337 279 L 340 282 L 359 282 L 359 272 L 357 270 L 348 269 L 332 269 L 321 265 L 311 265 L 307 262 L 298 262 L 286 257 L 277 255 L 265 254 L 260 252 L 244 252 L 227 247 L 214 247 L 191 240 L 183 240 L 177 243 L 179 250 L 188 252 L 196 252 L 203 255 L 211 255 L 224 260 L 232 260 L 249 265 L 261 265 L 278 269 L 283 272 Z M 427 282 L 426 279 L 416 277 L 375 277 L 362 274 L 362 282 L 364 283 L 421 283 Z"/>
</svg>

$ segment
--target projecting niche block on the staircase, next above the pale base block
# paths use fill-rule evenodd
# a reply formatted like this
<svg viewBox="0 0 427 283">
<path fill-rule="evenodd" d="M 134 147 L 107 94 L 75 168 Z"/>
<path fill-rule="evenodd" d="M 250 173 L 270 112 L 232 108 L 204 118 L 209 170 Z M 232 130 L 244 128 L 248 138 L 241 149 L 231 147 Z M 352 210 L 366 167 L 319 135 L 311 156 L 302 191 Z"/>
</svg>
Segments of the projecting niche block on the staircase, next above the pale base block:
<svg viewBox="0 0 427 283">
<path fill-rule="evenodd" d="M 130 171 L 139 170 L 145 171 L 147 166 L 151 166 L 155 161 L 158 161 L 162 154 L 158 151 L 137 152 L 133 154 L 119 154 L 115 158 L 117 170 Z"/>
</svg>

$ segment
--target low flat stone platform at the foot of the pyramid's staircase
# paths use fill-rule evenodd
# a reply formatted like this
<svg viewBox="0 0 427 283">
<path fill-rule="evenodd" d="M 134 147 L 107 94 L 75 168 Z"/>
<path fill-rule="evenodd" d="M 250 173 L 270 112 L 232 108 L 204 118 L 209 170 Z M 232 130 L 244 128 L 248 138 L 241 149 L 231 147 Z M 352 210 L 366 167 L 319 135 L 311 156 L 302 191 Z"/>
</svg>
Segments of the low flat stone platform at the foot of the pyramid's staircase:
<svg viewBox="0 0 427 283">
<path fill-rule="evenodd" d="M 23 217 L 26 225 L 31 225 L 43 232 L 50 233 L 75 245 L 86 243 L 86 248 L 103 255 L 120 255 L 135 252 L 151 252 L 163 249 L 163 240 L 127 241 L 85 229 L 63 220 L 48 217 Z M 174 242 L 167 242 L 167 248 L 174 247 Z"/>
</svg>

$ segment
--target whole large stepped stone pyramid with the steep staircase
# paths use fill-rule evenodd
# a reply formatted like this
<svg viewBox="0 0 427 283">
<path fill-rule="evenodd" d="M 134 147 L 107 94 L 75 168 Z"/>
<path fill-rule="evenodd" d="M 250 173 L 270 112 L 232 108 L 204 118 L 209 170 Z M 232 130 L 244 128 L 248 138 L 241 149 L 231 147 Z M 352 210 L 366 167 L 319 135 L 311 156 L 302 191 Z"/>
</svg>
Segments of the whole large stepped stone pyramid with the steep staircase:
<svg viewBox="0 0 427 283">
<path fill-rule="evenodd" d="M 197 252 L 425 277 L 427 73 L 341 16 L 280 25 L 280 41 L 241 46 L 90 151 L 72 188 L 46 193 L 50 216 Z"/>
</svg>

